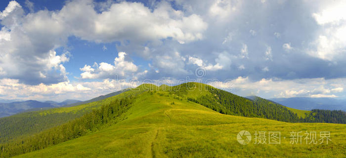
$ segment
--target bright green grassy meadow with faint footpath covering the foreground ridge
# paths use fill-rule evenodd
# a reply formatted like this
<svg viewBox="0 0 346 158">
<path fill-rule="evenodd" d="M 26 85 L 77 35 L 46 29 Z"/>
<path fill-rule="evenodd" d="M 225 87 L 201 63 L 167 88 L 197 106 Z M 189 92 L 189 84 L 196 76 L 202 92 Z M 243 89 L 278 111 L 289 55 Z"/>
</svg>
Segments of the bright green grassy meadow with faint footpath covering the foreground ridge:
<svg viewBox="0 0 346 158">
<path fill-rule="evenodd" d="M 168 91 L 144 92 L 123 117 L 126 119 L 103 130 L 18 158 L 344 158 L 346 155 L 345 124 L 287 123 L 222 115 L 185 99 L 174 99 Z M 241 130 L 249 131 L 253 138 L 256 131 L 280 131 L 281 144 L 258 145 L 252 140 L 241 145 L 236 137 Z M 304 142 L 291 145 L 292 131 L 318 134 L 330 131 L 332 141 L 328 145 Z"/>
</svg>

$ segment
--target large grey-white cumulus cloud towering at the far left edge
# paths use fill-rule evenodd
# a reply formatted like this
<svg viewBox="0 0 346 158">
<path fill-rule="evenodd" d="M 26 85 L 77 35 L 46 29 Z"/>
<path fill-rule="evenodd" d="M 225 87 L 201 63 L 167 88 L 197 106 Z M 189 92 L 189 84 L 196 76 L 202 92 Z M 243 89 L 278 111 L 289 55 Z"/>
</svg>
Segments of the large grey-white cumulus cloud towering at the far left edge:
<svg viewBox="0 0 346 158">
<path fill-rule="evenodd" d="M 38 15 L 38 16 L 36 16 Z M 10 1 L 1 12 L 0 67 L 6 75 L 0 78 L 19 79 L 27 84 L 67 81 L 62 65 L 69 53 L 57 55 L 54 48 L 61 42 L 59 25 L 49 20 L 46 11 L 24 15 L 19 3 Z M 40 20 L 47 20 L 40 23 Z M 41 25 L 42 24 L 42 25 Z M 44 27 L 43 27 L 44 26 Z"/>
</svg>

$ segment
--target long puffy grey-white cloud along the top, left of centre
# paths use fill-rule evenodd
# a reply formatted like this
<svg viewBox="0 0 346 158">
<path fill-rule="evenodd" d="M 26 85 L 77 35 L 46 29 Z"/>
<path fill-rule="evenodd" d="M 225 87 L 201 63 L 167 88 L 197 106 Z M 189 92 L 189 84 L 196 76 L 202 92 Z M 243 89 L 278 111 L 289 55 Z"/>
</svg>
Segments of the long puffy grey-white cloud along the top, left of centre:
<svg viewBox="0 0 346 158">
<path fill-rule="evenodd" d="M 76 10 L 80 12 L 76 13 Z M 70 16 L 70 12 L 74 14 L 67 17 Z M 60 14 L 69 20 L 67 25 L 71 25 L 73 19 L 82 16 L 85 21 L 80 25 L 90 27 L 84 30 L 73 28 L 74 34 L 82 39 L 96 42 L 128 39 L 146 41 L 171 37 L 180 43 L 186 43 L 201 40 L 203 32 L 208 27 L 200 16 L 196 14 L 184 16 L 183 12 L 174 10 L 165 1 L 160 2 L 153 11 L 142 3 L 123 1 L 112 4 L 100 14 L 96 13 L 90 2 L 84 1 L 82 4 L 70 2 Z"/>
</svg>

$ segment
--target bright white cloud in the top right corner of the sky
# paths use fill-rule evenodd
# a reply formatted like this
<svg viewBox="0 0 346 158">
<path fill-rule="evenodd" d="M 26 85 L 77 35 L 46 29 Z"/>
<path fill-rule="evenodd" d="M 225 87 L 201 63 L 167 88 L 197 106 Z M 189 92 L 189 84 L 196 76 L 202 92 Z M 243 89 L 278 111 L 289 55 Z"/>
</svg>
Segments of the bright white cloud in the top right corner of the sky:
<svg viewBox="0 0 346 158">
<path fill-rule="evenodd" d="M 324 5 L 322 10 L 312 14 L 322 29 L 317 33 L 318 38 L 311 42 L 315 49 L 309 50 L 308 54 L 331 61 L 346 52 L 346 2 L 341 0 Z"/>
</svg>

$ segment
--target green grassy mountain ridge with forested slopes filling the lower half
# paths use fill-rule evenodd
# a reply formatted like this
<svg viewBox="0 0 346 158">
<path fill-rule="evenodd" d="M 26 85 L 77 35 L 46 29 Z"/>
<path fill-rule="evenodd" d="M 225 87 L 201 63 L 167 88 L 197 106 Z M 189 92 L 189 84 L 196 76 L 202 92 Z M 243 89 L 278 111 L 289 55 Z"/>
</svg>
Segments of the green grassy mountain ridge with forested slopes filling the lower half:
<svg viewBox="0 0 346 158">
<path fill-rule="evenodd" d="M 321 113 L 324 112 L 331 111 Z M 314 112 L 310 111 L 309 114 L 312 113 Z M 309 114 L 306 117 L 320 116 L 319 112 Z M 243 98 L 202 83 L 184 83 L 165 88 L 143 84 L 96 102 L 20 115 L 34 117 L 34 126 L 53 126 L 35 132 L 26 128 L 30 121 L 23 121 L 24 127 L 20 126 L 21 122 L 15 119 L 17 115 L 6 120 L 0 119 L 0 134 L 6 133 L 0 138 L 11 137 L 0 144 L 0 158 L 224 158 L 297 155 L 343 158 L 346 151 L 346 142 L 342 137 L 346 134 L 346 124 L 292 123 L 307 119 L 299 118 L 294 111 L 269 100 L 259 97 Z M 75 115 L 79 117 L 62 120 L 65 116 Z M 344 114 L 341 113 L 340 118 L 335 119 L 346 118 L 342 115 Z M 43 120 L 54 121 L 42 122 Z M 18 127 L 13 126 L 10 121 L 16 122 Z M 23 132 L 24 129 L 29 130 Z M 15 135 L 20 133 L 18 130 L 22 132 L 21 135 Z M 244 130 L 253 136 L 252 139 L 247 139 L 250 142 L 247 145 L 243 145 Z M 303 140 L 302 144 L 292 145 L 290 137 L 294 131 L 315 131 L 318 134 L 329 131 L 332 141 L 328 144 L 320 144 L 319 141 L 311 145 L 304 144 Z M 265 139 L 259 139 L 256 135 L 259 132 L 280 132 L 280 137 L 277 137 L 280 144 L 268 144 L 270 140 L 267 135 Z M 239 138 L 237 135 L 240 135 Z M 317 139 L 319 136 L 317 135 Z M 259 140 L 266 144 L 257 144 Z"/>
</svg>

